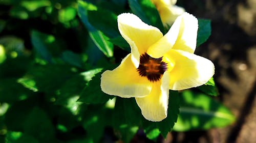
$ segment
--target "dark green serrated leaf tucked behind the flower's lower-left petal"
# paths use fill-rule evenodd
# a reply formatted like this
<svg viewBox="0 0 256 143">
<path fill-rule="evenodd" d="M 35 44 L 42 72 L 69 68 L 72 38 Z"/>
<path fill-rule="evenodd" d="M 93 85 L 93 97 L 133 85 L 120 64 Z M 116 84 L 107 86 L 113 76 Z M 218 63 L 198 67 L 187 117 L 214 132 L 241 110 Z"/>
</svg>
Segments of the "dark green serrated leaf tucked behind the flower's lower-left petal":
<svg viewBox="0 0 256 143">
<path fill-rule="evenodd" d="M 98 73 L 88 82 L 87 87 L 82 91 L 78 101 L 88 104 L 97 104 L 104 103 L 110 98 L 113 98 L 113 96 L 107 95 L 101 91 L 100 76 L 101 73 Z"/>
</svg>

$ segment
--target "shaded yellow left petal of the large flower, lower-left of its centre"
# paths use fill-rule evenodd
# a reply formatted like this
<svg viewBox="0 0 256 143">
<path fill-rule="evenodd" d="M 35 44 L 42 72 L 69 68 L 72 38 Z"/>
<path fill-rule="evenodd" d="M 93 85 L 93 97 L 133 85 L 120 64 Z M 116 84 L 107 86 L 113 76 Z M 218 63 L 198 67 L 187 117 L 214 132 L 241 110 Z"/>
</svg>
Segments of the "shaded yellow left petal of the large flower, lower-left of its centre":
<svg viewBox="0 0 256 143">
<path fill-rule="evenodd" d="M 130 53 L 116 69 L 102 73 L 100 87 L 106 94 L 123 98 L 144 97 L 150 94 L 152 83 L 139 75 Z"/>
</svg>

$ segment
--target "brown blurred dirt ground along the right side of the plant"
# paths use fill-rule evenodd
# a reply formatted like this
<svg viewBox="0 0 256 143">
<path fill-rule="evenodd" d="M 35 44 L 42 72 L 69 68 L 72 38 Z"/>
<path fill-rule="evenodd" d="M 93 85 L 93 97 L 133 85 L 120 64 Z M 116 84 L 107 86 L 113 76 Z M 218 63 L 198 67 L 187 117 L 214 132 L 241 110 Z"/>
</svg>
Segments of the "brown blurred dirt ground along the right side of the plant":
<svg viewBox="0 0 256 143">
<path fill-rule="evenodd" d="M 187 12 L 211 19 L 212 35 L 196 54 L 215 64 L 217 97 L 237 117 L 225 128 L 172 132 L 158 142 L 256 142 L 256 1 L 179 0 Z M 145 140 L 134 142 L 148 142 Z"/>
</svg>

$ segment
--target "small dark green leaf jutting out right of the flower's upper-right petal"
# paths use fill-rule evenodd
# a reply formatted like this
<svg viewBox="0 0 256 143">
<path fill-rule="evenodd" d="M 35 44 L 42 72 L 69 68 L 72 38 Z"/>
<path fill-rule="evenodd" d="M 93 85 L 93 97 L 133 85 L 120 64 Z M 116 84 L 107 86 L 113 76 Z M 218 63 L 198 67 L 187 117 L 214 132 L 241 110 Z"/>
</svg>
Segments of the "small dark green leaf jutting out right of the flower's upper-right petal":
<svg viewBox="0 0 256 143">
<path fill-rule="evenodd" d="M 211 35 L 210 20 L 198 19 L 197 47 L 203 44 Z"/>
</svg>

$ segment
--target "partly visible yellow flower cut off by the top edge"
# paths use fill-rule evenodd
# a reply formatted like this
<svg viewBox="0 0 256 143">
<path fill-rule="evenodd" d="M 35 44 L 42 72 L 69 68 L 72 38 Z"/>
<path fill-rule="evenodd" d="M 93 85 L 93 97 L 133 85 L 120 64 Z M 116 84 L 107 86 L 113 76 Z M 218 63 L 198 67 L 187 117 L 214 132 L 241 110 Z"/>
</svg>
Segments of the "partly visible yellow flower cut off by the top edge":
<svg viewBox="0 0 256 143">
<path fill-rule="evenodd" d="M 172 25 L 175 19 L 185 12 L 184 8 L 176 6 L 177 0 L 151 0 L 156 6 L 164 26 Z"/>
</svg>

